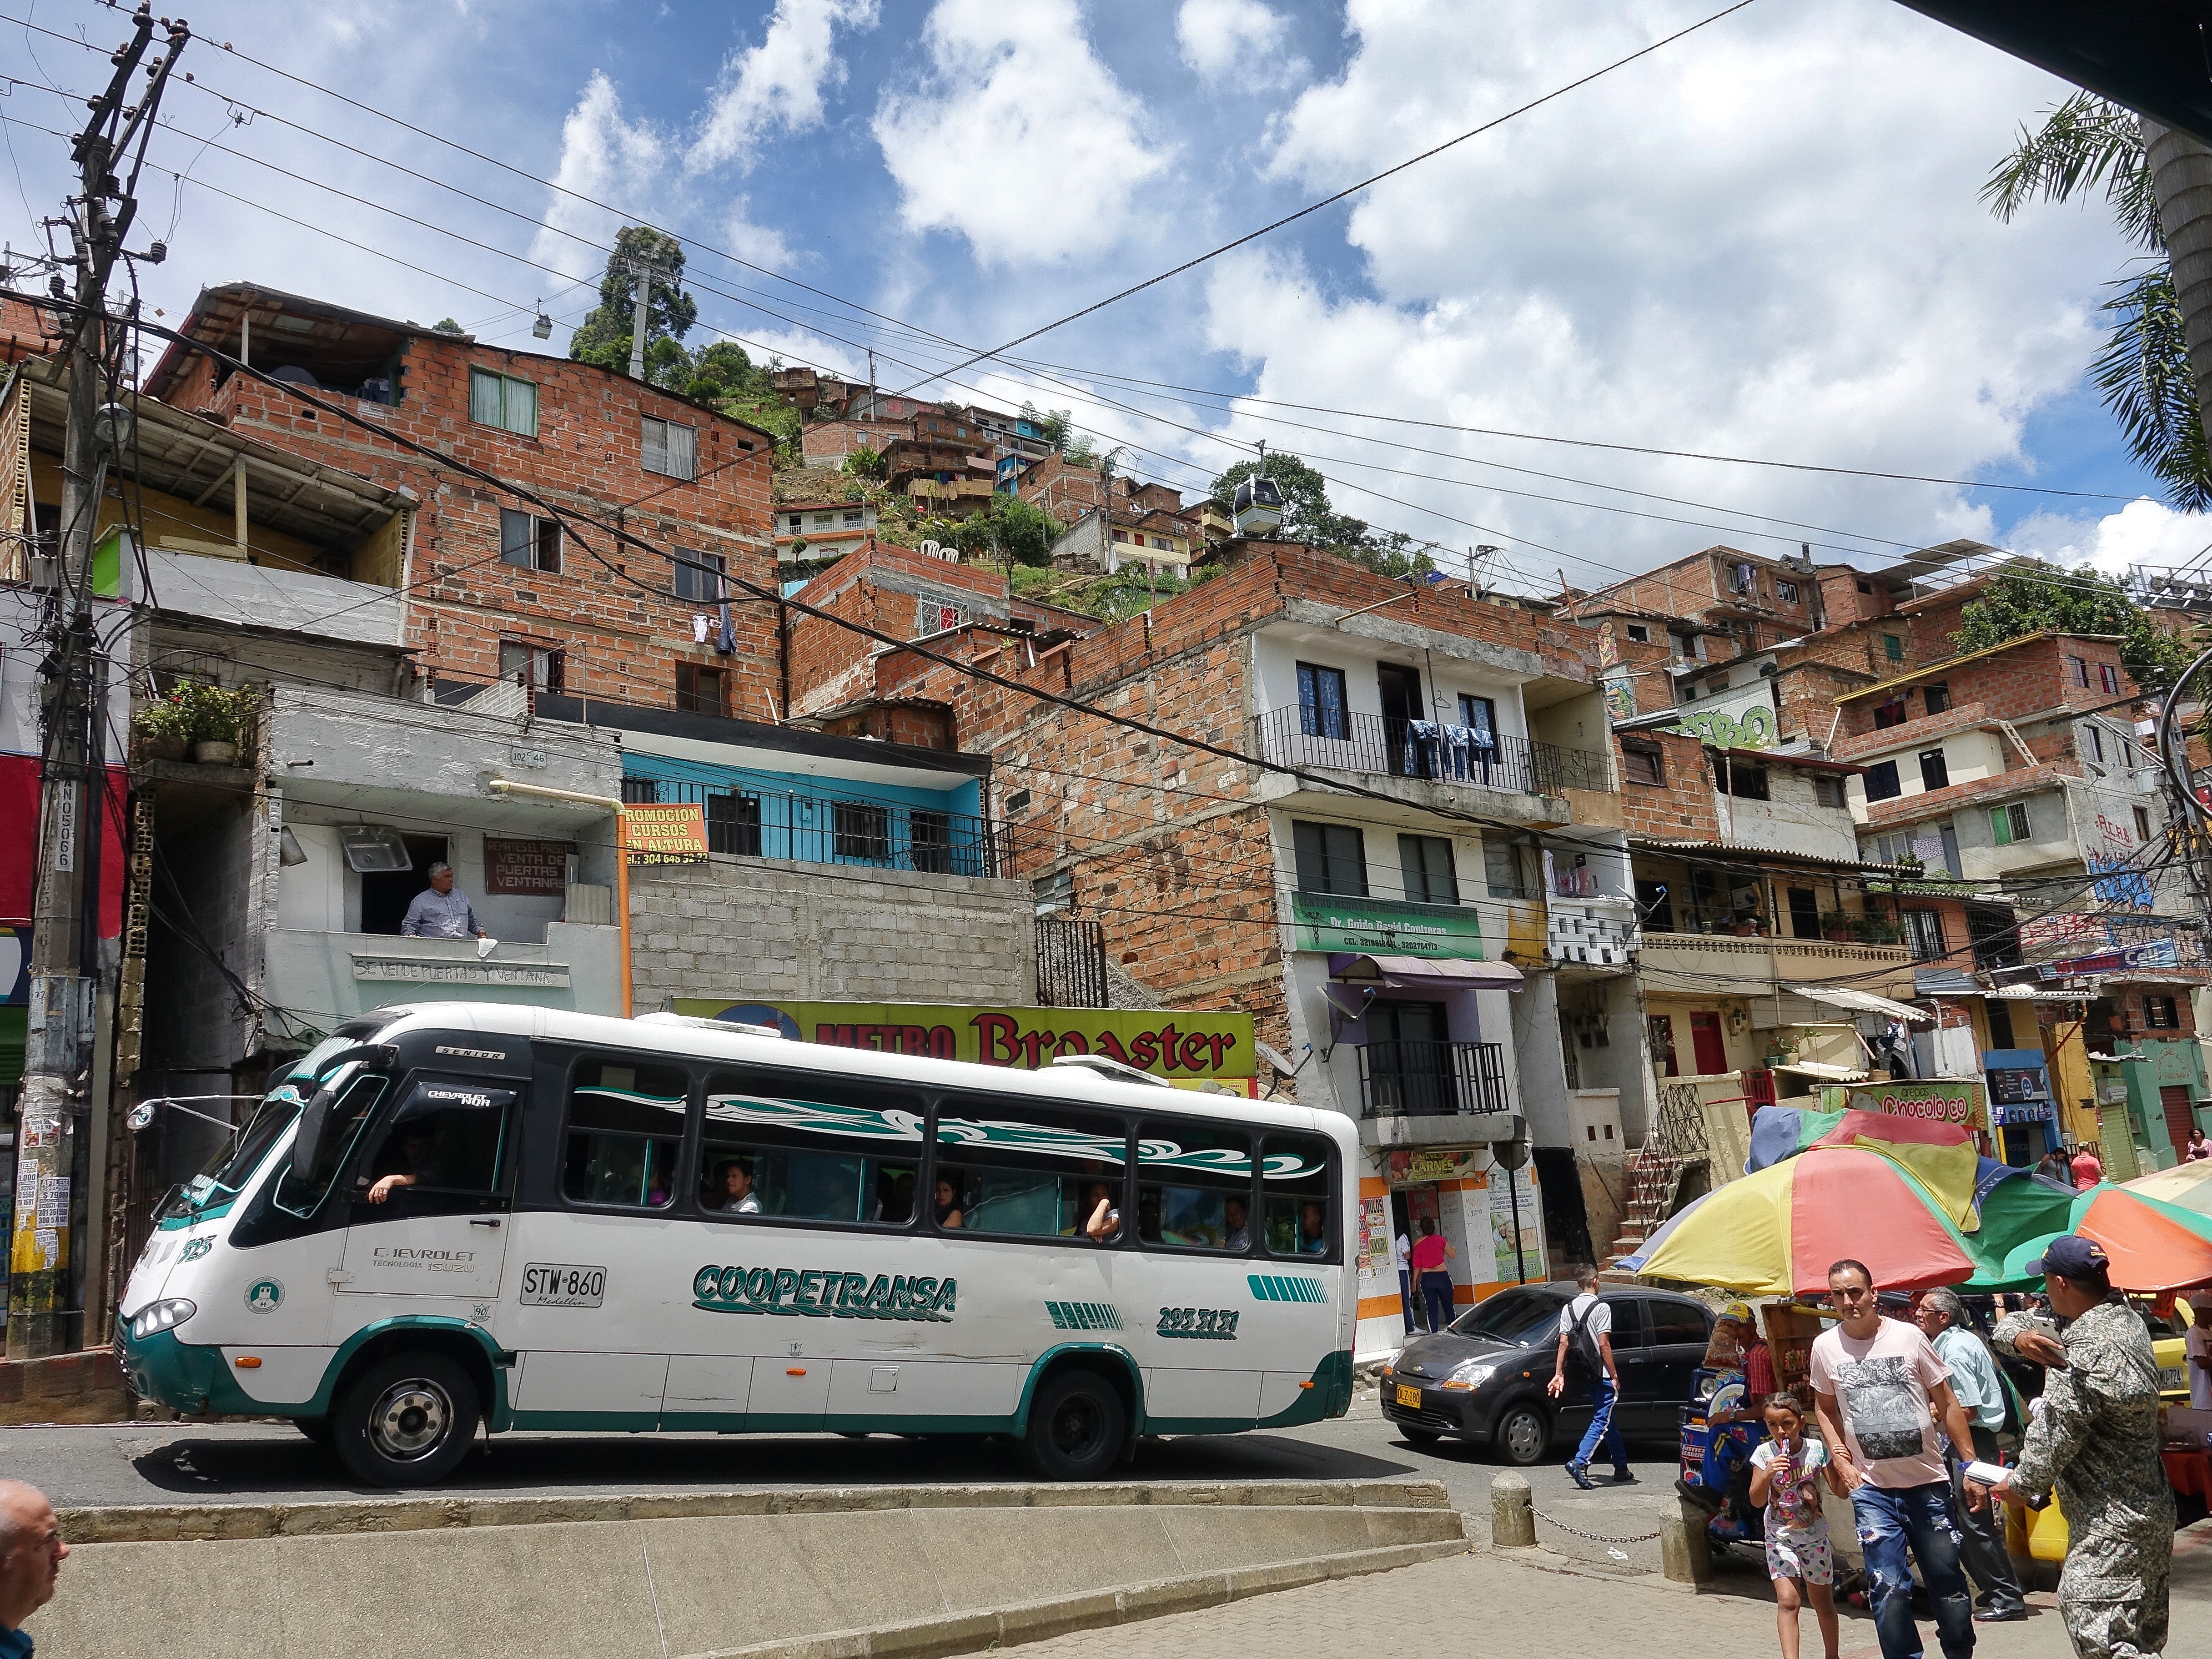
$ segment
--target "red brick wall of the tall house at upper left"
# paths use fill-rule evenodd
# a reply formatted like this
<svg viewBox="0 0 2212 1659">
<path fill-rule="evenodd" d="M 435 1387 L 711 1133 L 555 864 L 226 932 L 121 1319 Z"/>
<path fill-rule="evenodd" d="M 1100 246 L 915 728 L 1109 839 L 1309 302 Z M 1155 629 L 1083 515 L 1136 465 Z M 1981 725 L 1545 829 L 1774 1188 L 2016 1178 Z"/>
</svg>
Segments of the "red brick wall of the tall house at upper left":
<svg viewBox="0 0 2212 1659">
<path fill-rule="evenodd" d="M 732 577 L 774 588 L 768 434 L 568 358 L 416 334 L 403 365 L 405 396 L 398 407 L 354 407 L 582 520 L 619 513 L 633 535 L 657 549 L 721 553 Z M 538 438 L 469 420 L 471 365 L 538 385 Z M 310 405 L 246 376 L 232 376 L 215 392 L 206 358 L 192 358 L 173 403 L 210 407 L 226 416 L 232 431 L 380 484 L 407 487 L 420 498 L 407 571 L 407 644 L 431 675 L 491 679 L 500 666 L 500 639 L 526 639 L 560 646 L 568 690 L 597 697 L 668 706 L 675 701 L 677 661 L 726 670 L 732 714 L 770 717 L 772 699 L 781 697 L 772 604 L 732 606 L 737 653 L 721 657 L 710 644 L 692 641 L 690 619 L 701 606 L 659 597 L 672 584 L 672 566 L 659 553 L 586 531 L 584 540 L 604 562 L 575 538 L 564 538 L 560 573 L 507 566 L 498 562 L 500 507 L 520 504 L 467 476 L 378 442 L 352 422 L 319 416 Z M 648 414 L 699 429 L 695 482 L 644 471 L 639 416 Z"/>
</svg>

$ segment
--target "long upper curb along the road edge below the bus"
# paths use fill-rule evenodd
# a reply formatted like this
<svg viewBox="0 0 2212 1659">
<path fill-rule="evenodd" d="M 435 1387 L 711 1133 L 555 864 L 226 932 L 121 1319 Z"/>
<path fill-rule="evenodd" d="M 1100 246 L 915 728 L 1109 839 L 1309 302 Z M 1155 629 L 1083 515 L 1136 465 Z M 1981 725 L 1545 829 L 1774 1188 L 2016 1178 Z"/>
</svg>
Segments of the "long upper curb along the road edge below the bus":
<svg viewBox="0 0 2212 1659">
<path fill-rule="evenodd" d="M 1451 1509 L 1444 1486 L 1433 1480 L 1279 1480 L 1190 1484 L 1099 1482 L 1068 1486 L 796 1486 L 619 1498 L 372 1498 L 323 1504 L 113 1504 L 62 1509 L 58 1511 L 58 1520 L 62 1535 L 75 1546 L 422 1533 L 456 1526 L 690 1520 L 699 1515 L 827 1515 L 889 1509 L 1110 1509 L 1155 1504 L 1175 1509 Z M 1455 1544 L 1455 1548 L 1460 1546 Z"/>
</svg>

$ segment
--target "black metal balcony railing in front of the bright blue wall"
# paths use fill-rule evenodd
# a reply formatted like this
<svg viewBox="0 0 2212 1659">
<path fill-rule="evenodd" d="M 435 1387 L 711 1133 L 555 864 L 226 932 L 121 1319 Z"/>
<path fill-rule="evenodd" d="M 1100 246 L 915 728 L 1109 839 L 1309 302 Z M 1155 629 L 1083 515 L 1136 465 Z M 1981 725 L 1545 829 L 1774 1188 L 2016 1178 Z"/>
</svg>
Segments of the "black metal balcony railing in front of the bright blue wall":
<svg viewBox="0 0 2212 1659">
<path fill-rule="evenodd" d="M 697 801 L 706 807 L 708 852 L 794 858 L 812 865 L 874 865 L 929 876 L 998 876 L 1004 832 L 991 818 L 741 783 L 622 779 L 622 799 Z"/>
</svg>

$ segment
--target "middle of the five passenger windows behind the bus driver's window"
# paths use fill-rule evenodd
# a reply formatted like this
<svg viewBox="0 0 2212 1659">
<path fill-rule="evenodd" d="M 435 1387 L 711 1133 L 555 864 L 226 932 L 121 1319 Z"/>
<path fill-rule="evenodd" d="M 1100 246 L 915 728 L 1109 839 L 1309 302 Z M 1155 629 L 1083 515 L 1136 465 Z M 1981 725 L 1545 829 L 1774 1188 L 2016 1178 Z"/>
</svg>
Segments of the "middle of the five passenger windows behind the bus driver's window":
<svg viewBox="0 0 2212 1659">
<path fill-rule="evenodd" d="M 1006 1117 L 1009 1110 L 1022 1115 Z M 936 1141 L 938 1175 L 956 1181 L 953 1210 L 967 1232 L 1102 1245 L 1128 1237 L 1119 1221 L 1128 1128 L 1104 1113 L 947 1095 Z M 1102 1201 L 1115 1219 L 1093 1234 Z"/>
</svg>

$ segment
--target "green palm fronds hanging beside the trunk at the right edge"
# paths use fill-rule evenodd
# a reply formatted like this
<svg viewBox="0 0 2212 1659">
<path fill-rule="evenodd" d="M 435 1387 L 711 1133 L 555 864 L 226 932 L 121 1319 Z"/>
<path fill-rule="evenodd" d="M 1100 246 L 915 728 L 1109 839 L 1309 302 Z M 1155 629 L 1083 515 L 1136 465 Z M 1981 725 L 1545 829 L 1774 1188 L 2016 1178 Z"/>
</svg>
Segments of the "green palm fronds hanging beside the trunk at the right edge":
<svg viewBox="0 0 2212 1659">
<path fill-rule="evenodd" d="M 1982 199 L 2011 223 L 2033 201 L 2073 201 L 2099 186 L 2119 230 L 2143 252 L 2132 272 L 2110 283 L 2112 299 L 2099 307 L 2112 321 L 2090 378 L 2128 451 L 2166 484 L 2166 500 L 2201 513 L 2212 509 L 2212 451 L 2135 111 L 2095 93 L 2075 93 L 2044 111 L 2042 128 L 2020 128 L 2020 144 L 1991 168 Z"/>
</svg>

